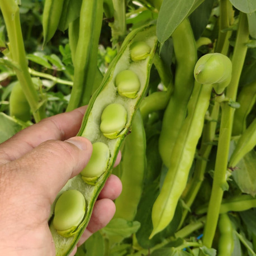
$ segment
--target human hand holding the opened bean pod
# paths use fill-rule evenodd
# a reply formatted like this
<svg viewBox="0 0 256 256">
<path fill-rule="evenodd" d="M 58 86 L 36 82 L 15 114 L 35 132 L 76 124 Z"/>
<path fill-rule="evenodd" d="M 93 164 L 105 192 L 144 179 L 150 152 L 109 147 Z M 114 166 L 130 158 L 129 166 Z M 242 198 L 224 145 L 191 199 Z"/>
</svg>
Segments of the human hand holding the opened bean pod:
<svg viewBox="0 0 256 256">
<path fill-rule="evenodd" d="M 92 144 L 77 134 L 86 107 L 46 118 L 0 144 L 1 255 L 55 255 L 48 227 L 50 206 L 68 179 L 88 163 Z M 120 162 L 117 157 L 116 164 Z M 106 226 L 121 193 L 116 176 L 108 178 L 78 242 Z M 75 248 L 70 255 L 74 255 Z"/>
</svg>

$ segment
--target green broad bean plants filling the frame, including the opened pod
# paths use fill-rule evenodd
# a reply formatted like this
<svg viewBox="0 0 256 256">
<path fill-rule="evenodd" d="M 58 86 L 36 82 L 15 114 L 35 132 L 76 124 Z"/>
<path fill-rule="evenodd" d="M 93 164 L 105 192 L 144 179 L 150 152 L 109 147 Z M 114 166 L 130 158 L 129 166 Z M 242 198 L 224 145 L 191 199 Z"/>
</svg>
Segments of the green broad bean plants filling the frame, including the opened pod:
<svg viewBox="0 0 256 256">
<path fill-rule="evenodd" d="M 93 154 L 53 203 L 56 254 L 119 149 L 116 215 L 77 255 L 255 254 L 255 1 L 17 2 L 0 0 L 1 141 L 88 104 Z"/>
</svg>

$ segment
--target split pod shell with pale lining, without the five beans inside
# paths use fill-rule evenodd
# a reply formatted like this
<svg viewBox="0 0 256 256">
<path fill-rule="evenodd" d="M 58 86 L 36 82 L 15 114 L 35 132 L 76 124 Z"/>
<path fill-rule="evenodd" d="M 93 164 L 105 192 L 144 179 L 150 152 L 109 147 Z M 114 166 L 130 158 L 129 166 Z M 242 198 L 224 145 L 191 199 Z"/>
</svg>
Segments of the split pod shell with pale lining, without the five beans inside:
<svg viewBox="0 0 256 256">
<path fill-rule="evenodd" d="M 130 59 L 130 45 L 135 41 L 145 40 L 150 46 L 149 56 L 139 62 L 131 61 Z M 149 25 L 141 27 L 138 30 L 132 31 L 125 39 L 121 46 L 120 52 L 113 59 L 108 71 L 103 78 L 101 86 L 93 94 L 86 114 L 84 115 L 82 126 L 78 132 L 78 136 L 83 136 L 89 139 L 92 143 L 101 142 L 107 145 L 110 150 L 110 158 L 108 159 L 107 168 L 105 172 L 98 177 L 97 182 L 94 185 L 84 182 L 83 176 L 78 176 L 70 179 L 60 193 L 68 189 L 76 189 L 81 192 L 86 200 L 86 213 L 82 222 L 77 226 L 73 232 L 70 232 L 70 237 L 66 238 L 58 234 L 53 226 L 53 221 L 50 219 L 50 230 L 53 235 L 53 240 L 56 249 L 56 255 L 68 255 L 72 252 L 74 246 L 77 244 L 80 236 L 83 234 L 84 229 L 89 222 L 92 214 L 94 202 L 97 199 L 99 192 L 104 186 L 107 178 L 111 174 L 113 164 L 115 163 L 118 150 L 125 136 L 130 130 L 132 119 L 139 104 L 146 93 L 146 89 L 149 83 L 149 73 L 151 64 L 154 58 L 154 52 L 157 47 L 157 36 L 155 35 L 155 26 Z M 116 75 L 122 70 L 130 69 L 138 75 L 140 80 L 140 89 L 136 98 L 127 98 L 120 96 L 117 93 L 115 85 Z M 117 138 L 107 138 L 101 131 L 102 113 L 107 106 L 112 103 L 121 105 L 125 108 L 127 118 L 125 125 L 120 136 Z M 105 117 L 104 117 L 105 118 Z M 103 119 L 104 119 L 103 118 Z M 54 203 L 55 205 L 55 203 Z M 53 205 L 53 207 L 54 207 Z"/>
</svg>

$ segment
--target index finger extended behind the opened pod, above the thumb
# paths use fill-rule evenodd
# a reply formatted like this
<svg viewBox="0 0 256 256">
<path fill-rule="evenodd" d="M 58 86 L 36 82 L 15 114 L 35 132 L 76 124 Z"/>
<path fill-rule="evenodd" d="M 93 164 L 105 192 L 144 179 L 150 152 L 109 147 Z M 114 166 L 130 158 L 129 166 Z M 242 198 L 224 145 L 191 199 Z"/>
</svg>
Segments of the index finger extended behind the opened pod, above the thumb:
<svg viewBox="0 0 256 256">
<path fill-rule="evenodd" d="M 87 106 L 51 116 L 27 127 L 0 144 L 0 164 L 25 155 L 46 140 L 67 140 L 77 134 Z"/>
</svg>

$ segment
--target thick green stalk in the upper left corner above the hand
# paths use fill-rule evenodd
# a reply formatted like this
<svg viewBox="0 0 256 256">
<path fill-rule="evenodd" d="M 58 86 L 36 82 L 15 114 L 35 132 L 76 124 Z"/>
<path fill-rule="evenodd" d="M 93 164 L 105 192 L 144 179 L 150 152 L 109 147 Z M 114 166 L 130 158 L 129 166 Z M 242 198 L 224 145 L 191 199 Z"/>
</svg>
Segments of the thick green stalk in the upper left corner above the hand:
<svg viewBox="0 0 256 256">
<path fill-rule="evenodd" d="M 21 32 L 19 8 L 15 0 L 0 0 L 0 8 L 6 23 L 6 29 L 10 41 L 9 47 L 11 58 L 20 68 L 15 70 L 17 78 L 20 81 L 22 90 L 29 102 L 35 121 L 39 122 L 45 117 L 45 111 L 43 108 L 39 108 L 40 99 L 35 86 L 32 83 L 27 66 L 26 53 Z"/>
</svg>

